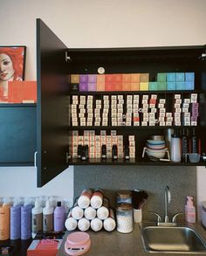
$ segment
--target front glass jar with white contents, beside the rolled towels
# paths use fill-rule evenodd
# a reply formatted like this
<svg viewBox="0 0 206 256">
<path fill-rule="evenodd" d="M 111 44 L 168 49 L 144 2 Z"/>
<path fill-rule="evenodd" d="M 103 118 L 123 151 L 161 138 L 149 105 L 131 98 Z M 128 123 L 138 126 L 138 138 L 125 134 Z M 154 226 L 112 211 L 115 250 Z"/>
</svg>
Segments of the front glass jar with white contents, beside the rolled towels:
<svg viewBox="0 0 206 256">
<path fill-rule="evenodd" d="M 117 204 L 117 231 L 129 233 L 133 231 L 133 205 L 127 203 Z"/>
</svg>

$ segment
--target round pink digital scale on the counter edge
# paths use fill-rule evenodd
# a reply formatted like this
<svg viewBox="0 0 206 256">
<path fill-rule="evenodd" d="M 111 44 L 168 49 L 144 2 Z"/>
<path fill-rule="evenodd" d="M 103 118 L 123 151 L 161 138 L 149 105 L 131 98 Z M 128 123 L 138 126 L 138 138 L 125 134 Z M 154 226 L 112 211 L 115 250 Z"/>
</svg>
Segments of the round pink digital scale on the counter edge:
<svg viewBox="0 0 206 256">
<path fill-rule="evenodd" d="M 65 253 L 69 255 L 82 255 L 91 246 L 91 239 L 86 232 L 72 232 L 65 241 Z"/>
</svg>

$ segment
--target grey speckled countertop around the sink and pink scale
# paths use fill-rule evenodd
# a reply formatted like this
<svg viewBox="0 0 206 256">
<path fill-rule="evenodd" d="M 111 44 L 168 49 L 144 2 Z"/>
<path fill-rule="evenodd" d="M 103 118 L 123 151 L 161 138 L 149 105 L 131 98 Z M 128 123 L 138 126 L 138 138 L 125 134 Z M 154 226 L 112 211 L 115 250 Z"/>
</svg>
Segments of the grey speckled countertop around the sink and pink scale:
<svg viewBox="0 0 206 256">
<path fill-rule="evenodd" d="M 203 239 L 206 240 L 206 231 L 203 229 L 203 226 L 200 224 L 189 225 L 191 228 L 194 228 Z M 68 232 L 69 233 L 69 232 Z M 67 233 L 67 234 L 68 234 Z M 88 232 L 92 239 L 92 246 L 90 250 L 85 253 L 86 256 L 144 256 L 144 255 L 166 255 L 176 256 L 183 255 L 185 253 L 147 253 L 144 250 L 142 240 L 141 240 L 141 226 L 138 224 L 134 225 L 134 231 L 128 234 L 122 234 L 120 232 Z M 66 239 L 67 235 L 65 235 Z M 58 256 L 68 255 L 64 253 L 65 239 L 60 247 Z M 206 255 L 206 253 L 201 253 Z M 185 254 L 196 255 L 192 253 Z M 200 255 L 200 254 L 198 254 Z"/>
</svg>

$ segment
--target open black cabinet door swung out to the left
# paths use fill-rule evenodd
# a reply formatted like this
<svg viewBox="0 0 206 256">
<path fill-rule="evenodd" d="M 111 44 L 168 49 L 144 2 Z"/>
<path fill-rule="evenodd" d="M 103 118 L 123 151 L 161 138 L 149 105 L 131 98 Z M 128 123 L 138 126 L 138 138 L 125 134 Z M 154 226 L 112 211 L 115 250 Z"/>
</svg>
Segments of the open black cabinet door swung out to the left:
<svg viewBox="0 0 206 256">
<path fill-rule="evenodd" d="M 38 187 L 68 167 L 68 83 L 66 46 L 37 19 Z"/>
</svg>

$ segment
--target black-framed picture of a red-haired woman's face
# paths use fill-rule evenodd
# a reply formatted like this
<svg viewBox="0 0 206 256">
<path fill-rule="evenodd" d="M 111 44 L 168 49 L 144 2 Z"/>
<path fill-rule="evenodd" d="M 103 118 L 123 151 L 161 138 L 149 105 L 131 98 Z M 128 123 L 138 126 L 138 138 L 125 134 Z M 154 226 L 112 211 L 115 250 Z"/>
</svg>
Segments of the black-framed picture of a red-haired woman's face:
<svg viewBox="0 0 206 256">
<path fill-rule="evenodd" d="M 0 46 L 0 102 L 8 102 L 8 82 L 24 80 L 25 46 Z"/>
</svg>

